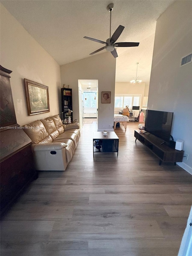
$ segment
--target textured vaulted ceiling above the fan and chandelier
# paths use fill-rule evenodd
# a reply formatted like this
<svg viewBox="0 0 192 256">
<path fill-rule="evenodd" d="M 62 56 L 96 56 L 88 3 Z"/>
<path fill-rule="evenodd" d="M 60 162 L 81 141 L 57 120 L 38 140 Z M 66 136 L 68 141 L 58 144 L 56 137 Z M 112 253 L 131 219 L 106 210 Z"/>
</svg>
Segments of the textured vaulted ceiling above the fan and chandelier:
<svg viewBox="0 0 192 256">
<path fill-rule="evenodd" d="M 140 42 L 139 47 L 117 48 L 116 82 L 128 82 L 135 77 L 139 62 L 137 75 L 149 84 L 156 20 L 174 1 L 1 1 L 59 65 L 91 58 L 89 53 L 104 46 L 83 37 L 102 41 L 109 38 L 107 5 L 111 2 L 112 34 L 122 25 L 125 29 L 118 42 Z"/>
</svg>

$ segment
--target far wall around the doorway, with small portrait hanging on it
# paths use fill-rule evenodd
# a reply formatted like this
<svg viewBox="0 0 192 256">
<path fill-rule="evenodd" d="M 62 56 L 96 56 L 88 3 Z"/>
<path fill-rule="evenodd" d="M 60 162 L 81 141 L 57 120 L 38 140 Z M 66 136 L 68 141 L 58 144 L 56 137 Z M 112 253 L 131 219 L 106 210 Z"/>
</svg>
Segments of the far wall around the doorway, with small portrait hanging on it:
<svg viewBox="0 0 192 256">
<path fill-rule="evenodd" d="M 78 79 L 98 80 L 98 130 L 113 131 L 116 59 L 109 52 L 61 66 L 61 84 L 73 89 L 73 118 L 79 120 Z M 111 92 L 111 103 L 101 103 L 101 92 Z M 111 107 L 111 110 L 110 110 Z M 101 109 L 100 109 L 101 108 Z M 109 128 L 109 125 L 111 126 Z"/>
</svg>

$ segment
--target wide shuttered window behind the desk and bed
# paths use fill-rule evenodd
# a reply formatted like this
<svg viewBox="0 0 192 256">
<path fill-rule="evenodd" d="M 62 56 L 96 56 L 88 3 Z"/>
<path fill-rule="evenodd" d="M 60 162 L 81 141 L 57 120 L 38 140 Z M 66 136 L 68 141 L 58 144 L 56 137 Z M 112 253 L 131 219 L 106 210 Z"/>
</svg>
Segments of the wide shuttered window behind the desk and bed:
<svg viewBox="0 0 192 256">
<path fill-rule="evenodd" d="M 141 95 L 115 95 L 115 108 L 125 108 L 125 106 L 129 106 L 132 108 L 133 106 L 140 106 Z"/>
</svg>

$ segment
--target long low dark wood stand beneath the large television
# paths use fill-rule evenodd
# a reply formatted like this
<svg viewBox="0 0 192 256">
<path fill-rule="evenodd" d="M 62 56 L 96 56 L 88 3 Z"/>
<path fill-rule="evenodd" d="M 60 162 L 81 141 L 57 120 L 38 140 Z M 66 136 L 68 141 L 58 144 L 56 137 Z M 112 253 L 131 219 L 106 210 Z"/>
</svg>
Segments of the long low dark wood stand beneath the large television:
<svg viewBox="0 0 192 256">
<path fill-rule="evenodd" d="M 183 161 L 183 150 L 179 151 L 170 148 L 169 146 L 167 146 L 166 143 L 162 144 L 163 141 L 155 135 L 149 132 L 142 134 L 142 132 L 135 130 L 134 136 L 136 137 L 135 142 L 136 140 L 139 140 L 143 145 L 148 147 L 148 149 L 151 150 L 154 155 L 159 158 L 159 165 L 161 165 L 162 161 L 172 162 L 175 165 L 176 162 Z"/>
</svg>

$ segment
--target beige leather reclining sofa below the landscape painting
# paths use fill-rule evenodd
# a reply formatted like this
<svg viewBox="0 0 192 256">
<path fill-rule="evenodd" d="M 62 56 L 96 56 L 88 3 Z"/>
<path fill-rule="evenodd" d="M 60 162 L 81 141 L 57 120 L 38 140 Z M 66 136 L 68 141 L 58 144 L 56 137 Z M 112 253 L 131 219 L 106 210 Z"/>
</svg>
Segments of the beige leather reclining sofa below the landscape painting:
<svg viewBox="0 0 192 256">
<path fill-rule="evenodd" d="M 32 140 L 36 170 L 64 171 L 80 138 L 79 124 L 63 125 L 58 115 L 23 125 Z"/>
</svg>

